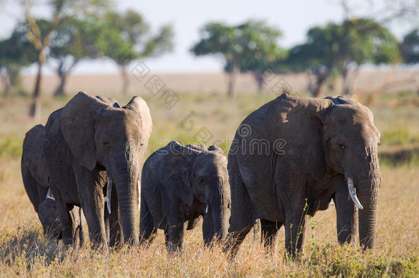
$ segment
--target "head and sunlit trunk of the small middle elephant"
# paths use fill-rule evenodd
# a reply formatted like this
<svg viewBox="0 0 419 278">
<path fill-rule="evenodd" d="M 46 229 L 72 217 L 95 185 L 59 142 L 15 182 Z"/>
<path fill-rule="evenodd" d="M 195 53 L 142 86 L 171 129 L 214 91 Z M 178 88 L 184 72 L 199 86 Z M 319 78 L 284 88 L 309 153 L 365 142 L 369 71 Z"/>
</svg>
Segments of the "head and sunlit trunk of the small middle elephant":
<svg viewBox="0 0 419 278">
<path fill-rule="evenodd" d="M 170 189 L 177 194 L 186 205 L 192 205 L 194 198 L 205 204 L 203 217 L 203 238 L 205 244 L 212 239 L 219 240 L 227 235 L 228 209 L 230 206 L 229 178 L 227 159 L 223 150 L 216 146 L 201 145 L 182 146 L 176 141 L 168 145 L 171 157 L 166 161 L 175 165 L 168 178 L 177 176 L 179 183 Z M 173 163 L 175 161 L 175 163 Z M 180 176 L 179 176 L 180 173 Z"/>
</svg>

